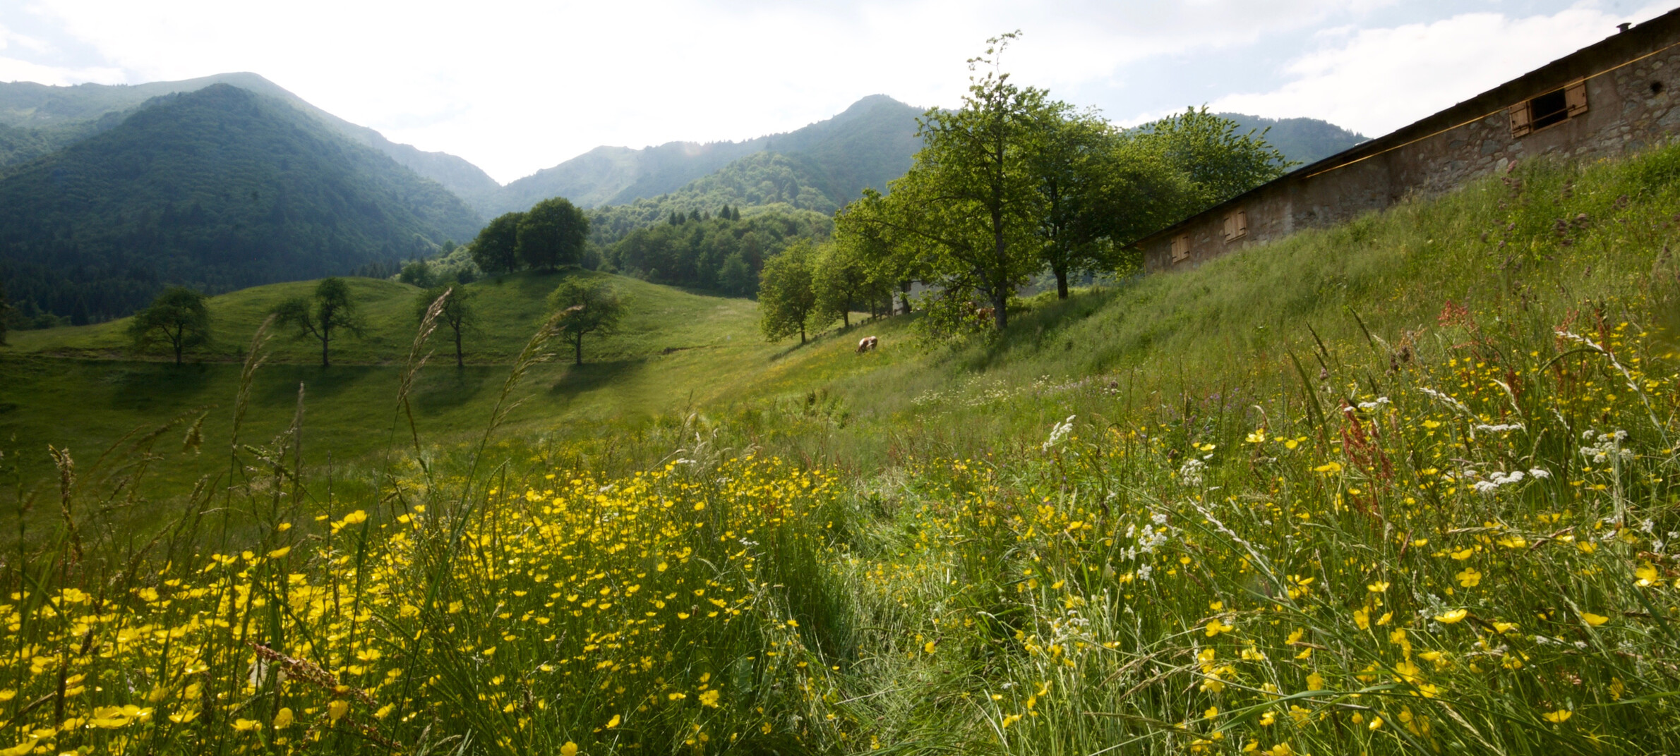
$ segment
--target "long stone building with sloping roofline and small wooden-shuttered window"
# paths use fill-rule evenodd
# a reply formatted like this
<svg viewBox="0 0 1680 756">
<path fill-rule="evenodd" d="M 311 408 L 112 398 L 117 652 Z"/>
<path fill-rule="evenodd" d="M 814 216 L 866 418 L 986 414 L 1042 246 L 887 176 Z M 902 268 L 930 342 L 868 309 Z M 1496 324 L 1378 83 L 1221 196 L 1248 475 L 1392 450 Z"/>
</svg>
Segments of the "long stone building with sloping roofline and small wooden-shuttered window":
<svg viewBox="0 0 1680 756">
<path fill-rule="evenodd" d="M 1149 272 L 1452 190 L 1539 156 L 1598 158 L 1680 133 L 1680 10 L 1297 168 L 1139 242 Z"/>
</svg>

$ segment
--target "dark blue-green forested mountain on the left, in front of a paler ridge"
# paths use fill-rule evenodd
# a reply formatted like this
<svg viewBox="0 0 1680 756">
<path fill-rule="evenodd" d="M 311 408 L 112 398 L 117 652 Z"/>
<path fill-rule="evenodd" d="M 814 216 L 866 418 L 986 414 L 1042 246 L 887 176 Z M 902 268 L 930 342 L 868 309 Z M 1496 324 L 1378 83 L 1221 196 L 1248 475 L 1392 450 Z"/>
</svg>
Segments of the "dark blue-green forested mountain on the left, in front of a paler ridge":
<svg viewBox="0 0 1680 756">
<path fill-rule="evenodd" d="M 438 183 L 230 84 L 153 97 L 0 178 L 10 297 L 84 321 L 131 312 L 163 284 L 348 274 L 477 228 Z"/>
</svg>

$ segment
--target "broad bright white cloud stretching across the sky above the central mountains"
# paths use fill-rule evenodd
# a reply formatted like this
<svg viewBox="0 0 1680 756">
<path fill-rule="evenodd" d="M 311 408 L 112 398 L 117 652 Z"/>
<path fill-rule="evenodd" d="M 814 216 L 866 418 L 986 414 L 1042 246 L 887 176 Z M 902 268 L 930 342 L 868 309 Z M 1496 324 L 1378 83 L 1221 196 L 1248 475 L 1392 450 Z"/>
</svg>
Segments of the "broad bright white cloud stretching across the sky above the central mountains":
<svg viewBox="0 0 1680 756">
<path fill-rule="evenodd" d="M 129 82 L 254 71 L 507 181 L 596 144 L 793 129 L 865 94 L 953 104 L 966 86 L 963 60 L 1011 29 L 1026 35 L 1006 66 L 1018 81 L 1057 89 L 1391 2 L 39 0 L 32 17 L 102 55 L 84 62 L 92 81 L 111 81 L 111 71 Z M 66 82 L 74 71 L 60 64 L 40 76 Z"/>
</svg>

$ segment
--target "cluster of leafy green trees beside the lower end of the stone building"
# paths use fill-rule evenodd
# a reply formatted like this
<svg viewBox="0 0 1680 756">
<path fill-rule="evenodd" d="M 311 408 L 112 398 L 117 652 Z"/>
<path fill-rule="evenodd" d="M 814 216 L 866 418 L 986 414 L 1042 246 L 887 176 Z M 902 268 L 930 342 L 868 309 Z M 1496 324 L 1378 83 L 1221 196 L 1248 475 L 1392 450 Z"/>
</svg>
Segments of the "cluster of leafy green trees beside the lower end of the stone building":
<svg viewBox="0 0 1680 756">
<path fill-rule="evenodd" d="M 1016 32 L 1018 34 L 1018 32 Z M 1238 133 L 1206 108 L 1121 129 L 1097 111 L 1016 86 L 1000 59 L 1016 34 L 969 59 L 958 109 L 919 119 L 922 150 L 887 193 L 835 215 L 833 240 L 764 264 L 759 306 L 771 339 L 872 312 L 909 311 L 912 284 L 929 333 L 984 316 L 1008 326 L 1010 299 L 1042 274 L 1068 296 L 1084 274 L 1136 270 L 1136 242 L 1270 181 L 1292 165 L 1265 133 Z"/>
</svg>

